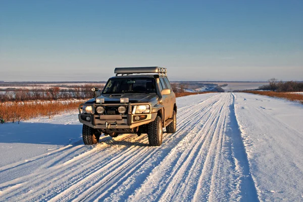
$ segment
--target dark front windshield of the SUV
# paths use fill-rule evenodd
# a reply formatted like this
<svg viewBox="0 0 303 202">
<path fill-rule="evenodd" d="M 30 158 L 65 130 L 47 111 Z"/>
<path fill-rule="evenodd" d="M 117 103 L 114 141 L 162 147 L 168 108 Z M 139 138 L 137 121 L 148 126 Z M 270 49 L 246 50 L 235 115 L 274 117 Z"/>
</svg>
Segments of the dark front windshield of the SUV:
<svg viewBox="0 0 303 202">
<path fill-rule="evenodd" d="M 154 78 L 111 79 L 103 93 L 156 93 Z"/>
</svg>

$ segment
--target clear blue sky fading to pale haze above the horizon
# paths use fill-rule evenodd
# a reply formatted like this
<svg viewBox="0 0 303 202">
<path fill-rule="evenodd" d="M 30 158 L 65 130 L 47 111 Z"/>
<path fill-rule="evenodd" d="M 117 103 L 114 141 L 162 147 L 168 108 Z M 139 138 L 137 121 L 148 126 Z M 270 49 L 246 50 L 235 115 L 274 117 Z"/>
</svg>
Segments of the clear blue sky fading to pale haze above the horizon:
<svg viewBox="0 0 303 202">
<path fill-rule="evenodd" d="M 3 1 L 0 80 L 303 80 L 303 1 Z"/>
</svg>

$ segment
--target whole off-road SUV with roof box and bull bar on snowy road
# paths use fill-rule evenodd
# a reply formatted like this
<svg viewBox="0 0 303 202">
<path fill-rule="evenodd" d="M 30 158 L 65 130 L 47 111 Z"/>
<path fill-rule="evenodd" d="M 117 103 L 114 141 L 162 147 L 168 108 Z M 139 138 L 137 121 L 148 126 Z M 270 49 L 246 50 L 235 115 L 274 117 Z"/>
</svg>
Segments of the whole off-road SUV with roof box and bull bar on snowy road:
<svg viewBox="0 0 303 202">
<path fill-rule="evenodd" d="M 176 95 L 167 69 L 116 68 L 115 74 L 102 92 L 92 88 L 94 98 L 79 106 L 84 144 L 97 144 L 102 133 L 147 133 L 149 145 L 160 146 L 163 127 L 167 133 L 176 132 Z"/>
</svg>

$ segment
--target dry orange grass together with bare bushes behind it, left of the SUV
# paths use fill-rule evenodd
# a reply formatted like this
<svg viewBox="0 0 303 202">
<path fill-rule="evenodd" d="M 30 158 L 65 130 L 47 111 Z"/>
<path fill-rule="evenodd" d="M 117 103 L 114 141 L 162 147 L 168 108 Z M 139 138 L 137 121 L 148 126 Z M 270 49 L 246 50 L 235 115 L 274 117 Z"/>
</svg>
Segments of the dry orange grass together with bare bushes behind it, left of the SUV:
<svg viewBox="0 0 303 202">
<path fill-rule="evenodd" d="M 49 119 L 57 114 L 75 111 L 87 99 L 93 97 L 95 85 L 62 89 L 41 87 L 5 89 L 0 92 L 0 123 L 18 122 L 38 116 Z M 103 88 L 103 86 L 97 86 Z"/>
</svg>

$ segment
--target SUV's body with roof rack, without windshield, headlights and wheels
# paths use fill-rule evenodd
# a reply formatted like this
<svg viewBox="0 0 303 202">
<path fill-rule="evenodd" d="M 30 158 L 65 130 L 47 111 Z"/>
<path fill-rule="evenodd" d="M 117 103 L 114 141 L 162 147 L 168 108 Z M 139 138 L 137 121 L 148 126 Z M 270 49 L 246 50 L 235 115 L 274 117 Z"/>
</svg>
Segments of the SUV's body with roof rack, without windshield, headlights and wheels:
<svg viewBox="0 0 303 202">
<path fill-rule="evenodd" d="M 172 122 L 173 110 L 177 112 L 176 96 L 167 79 L 165 68 L 116 68 L 115 73 L 116 77 L 110 78 L 107 84 L 113 79 L 152 78 L 155 79 L 156 93 L 106 94 L 103 90 L 99 96 L 79 106 L 79 121 L 81 123 L 99 129 L 104 133 L 138 133 L 139 126 L 154 121 L 157 115 L 161 117 L 164 127 Z M 165 82 L 165 88 L 163 82 Z M 128 98 L 127 103 L 121 102 L 124 98 Z M 103 103 L 97 103 L 96 100 L 102 100 Z M 136 107 L 139 105 L 148 105 L 149 112 L 136 113 Z M 91 106 L 91 113 L 84 113 L 83 106 Z M 105 113 L 98 114 L 96 111 L 98 106 L 102 106 Z M 117 111 L 119 106 L 124 106 L 127 109 L 126 112 L 123 114 L 117 112 L 115 114 L 106 113 L 107 109 L 116 109 Z M 136 120 L 138 116 L 139 120 Z"/>
</svg>

